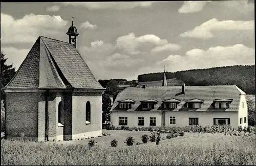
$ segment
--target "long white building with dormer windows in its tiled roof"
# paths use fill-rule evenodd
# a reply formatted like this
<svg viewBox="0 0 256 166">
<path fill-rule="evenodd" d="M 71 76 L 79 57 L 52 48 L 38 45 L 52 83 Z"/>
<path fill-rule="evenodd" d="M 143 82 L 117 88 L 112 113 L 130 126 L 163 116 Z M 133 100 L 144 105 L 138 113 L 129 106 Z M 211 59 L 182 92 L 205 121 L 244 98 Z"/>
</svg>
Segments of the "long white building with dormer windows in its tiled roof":
<svg viewBox="0 0 256 166">
<path fill-rule="evenodd" d="M 245 92 L 236 85 L 127 87 L 111 108 L 113 126 L 247 126 Z"/>
</svg>

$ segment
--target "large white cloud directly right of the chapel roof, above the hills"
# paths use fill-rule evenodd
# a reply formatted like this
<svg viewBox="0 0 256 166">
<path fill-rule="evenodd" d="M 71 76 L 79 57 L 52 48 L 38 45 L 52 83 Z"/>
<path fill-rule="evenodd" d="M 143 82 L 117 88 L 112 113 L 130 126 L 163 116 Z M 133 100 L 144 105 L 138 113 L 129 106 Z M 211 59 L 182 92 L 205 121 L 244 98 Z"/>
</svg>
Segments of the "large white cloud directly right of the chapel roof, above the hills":
<svg viewBox="0 0 256 166">
<path fill-rule="evenodd" d="M 152 54 L 152 49 L 156 55 Z M 81 55 L 85 55 L 88 66 L 100 79 L 137 77 L 141 66 L 151 65 L 166 58 L 170 52 L 179 50 L 177 44 L 168 43 L 153 34 L 137 36 L 134 33 L 120 36 L 116 44 L 95 40 L 91 45 L 79 48 Z M 134 78 L 136 79 L 136 78 Z"/>
</svg>

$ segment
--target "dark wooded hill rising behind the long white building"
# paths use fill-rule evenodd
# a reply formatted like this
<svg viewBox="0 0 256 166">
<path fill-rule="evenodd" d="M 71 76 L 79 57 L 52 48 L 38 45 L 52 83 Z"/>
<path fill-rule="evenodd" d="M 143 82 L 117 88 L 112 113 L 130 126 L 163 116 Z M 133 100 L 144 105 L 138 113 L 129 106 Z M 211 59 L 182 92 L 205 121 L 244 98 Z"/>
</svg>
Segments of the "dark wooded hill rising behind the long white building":
<svg viewBox="0 0 256 166">
<path fill-rule="evenodd" d="M 166 79 L 176 78 L 186 85 L 237 85 L 247 94 L 255 94 L 255 65 L 236 65 L 207 69 L 192 69 L 181 72 L 166 72 Z M 139 82 L 159 81 L 163 73 L 138 76 Z"/>
</svg>

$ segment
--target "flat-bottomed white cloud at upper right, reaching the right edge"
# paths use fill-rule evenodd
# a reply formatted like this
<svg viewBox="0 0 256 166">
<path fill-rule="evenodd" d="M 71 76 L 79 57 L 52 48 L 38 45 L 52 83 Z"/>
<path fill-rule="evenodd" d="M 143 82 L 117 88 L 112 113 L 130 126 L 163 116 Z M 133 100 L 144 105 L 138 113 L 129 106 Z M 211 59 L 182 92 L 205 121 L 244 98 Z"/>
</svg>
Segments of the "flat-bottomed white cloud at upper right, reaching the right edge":
<svg viewBox="0 0 256 166">
<path fill-rule="evenodd" d="M 235 20 L 223 20 L 219 21 L 216 18 L 212 18 L 200 26 L 197 26 L 193 30 L 180 34 L 181 37 L 201 38 L 209 39 L 214 37 L 212 31 L 221 30 L 254 30 L 254 20 L 250 21 L 235 21 Z"/>
</svg>

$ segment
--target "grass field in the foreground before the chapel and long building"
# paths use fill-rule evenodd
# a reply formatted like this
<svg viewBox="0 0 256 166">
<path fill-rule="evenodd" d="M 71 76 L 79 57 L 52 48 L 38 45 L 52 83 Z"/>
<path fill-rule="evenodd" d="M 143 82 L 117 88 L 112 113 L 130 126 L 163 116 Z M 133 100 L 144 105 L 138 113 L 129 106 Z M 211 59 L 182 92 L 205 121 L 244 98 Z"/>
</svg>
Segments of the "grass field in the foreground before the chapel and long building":
<svg viewBox="0 0 256 166">
<path fill-rule="evenodd" d="M 103 131 L 110 136 L 58 143 L 1 140 L 1 165 L 255 165 L 255 134 L 230 136 L 220 133 L 185 133 L 183 137 L 125 146 L 148 131 Z M 112 139 L 117 147 L 110 147 Z M 89 148 L 88 141 L 96 140 Z"/>
</svg>

